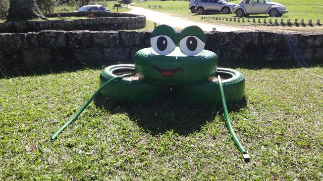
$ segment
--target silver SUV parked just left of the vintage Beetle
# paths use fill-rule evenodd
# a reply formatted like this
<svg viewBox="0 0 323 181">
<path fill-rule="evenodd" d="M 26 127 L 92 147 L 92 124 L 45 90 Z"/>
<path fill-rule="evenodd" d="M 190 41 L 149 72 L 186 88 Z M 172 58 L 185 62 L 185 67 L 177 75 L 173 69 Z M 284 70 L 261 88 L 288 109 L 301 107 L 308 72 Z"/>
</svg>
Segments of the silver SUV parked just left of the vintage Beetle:
<svg viewBox="0 0 323 181">
<path fill-rule="evenodd" d="M 197 0 L 195 9 L 198 14 L 210 12 L 222 12 L 230 14 L 236 6 L 234 3 L 228 3 L 224 0 Z"/>
</svg>

